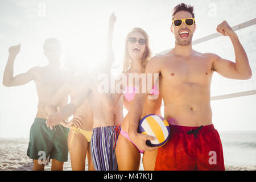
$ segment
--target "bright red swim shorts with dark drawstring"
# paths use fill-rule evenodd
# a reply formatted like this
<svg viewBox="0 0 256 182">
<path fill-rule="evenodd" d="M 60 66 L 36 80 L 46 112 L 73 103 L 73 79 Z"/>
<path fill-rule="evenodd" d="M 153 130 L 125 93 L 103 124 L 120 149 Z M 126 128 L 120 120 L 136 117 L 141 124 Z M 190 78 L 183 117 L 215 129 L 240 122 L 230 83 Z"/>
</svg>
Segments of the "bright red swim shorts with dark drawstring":
<svg viewBox="0 0 256 182">
<path fill-rule="evenodd" d="M 220 135 L 213 125 L 170 129 L 170 139 L 158 148 L 155 170 L 225 170 Z"/>
</svg>

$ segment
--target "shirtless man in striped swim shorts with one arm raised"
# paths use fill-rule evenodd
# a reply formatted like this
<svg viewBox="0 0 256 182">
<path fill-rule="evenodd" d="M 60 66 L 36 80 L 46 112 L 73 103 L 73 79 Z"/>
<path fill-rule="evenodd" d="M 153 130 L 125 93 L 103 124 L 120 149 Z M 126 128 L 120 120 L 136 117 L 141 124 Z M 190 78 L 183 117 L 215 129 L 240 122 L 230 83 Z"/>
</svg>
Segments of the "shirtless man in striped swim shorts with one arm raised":
<svg viewBox="0 0 256 182">
<path fill-rule="evenodd" d="M 108 47 L 111 48 L 113 26 L 115 16 L 110 16 Z M 112 49 L 108 51 L 113 55 Z M 93 166 L 96 171 L 118 170 L 115 157 L 115 144 L 120 131 L 120 124 L 123 120 L 122 115 L 122 97 L 121 94 L 100 93 L 97 90 L 97 76 L 105 73 L 108 77 L 111 75 L 111 66 L 113 57 L 108 57 L 105 63 L 98 66 L 98 69 L 84 79 L 86 82 L 77 89 L 76 97 L 71 103 L 65 106 L 60 113 L 49 115 L 47 125 L 52 127 L 57 125 L 63 118 L 69 117 L 81 106 L 85 98 L 88 98 L 93 112 L 93 134 L 90 142 Z M 88 93 L 90 96 L 88 97 Z"/>
</svg>

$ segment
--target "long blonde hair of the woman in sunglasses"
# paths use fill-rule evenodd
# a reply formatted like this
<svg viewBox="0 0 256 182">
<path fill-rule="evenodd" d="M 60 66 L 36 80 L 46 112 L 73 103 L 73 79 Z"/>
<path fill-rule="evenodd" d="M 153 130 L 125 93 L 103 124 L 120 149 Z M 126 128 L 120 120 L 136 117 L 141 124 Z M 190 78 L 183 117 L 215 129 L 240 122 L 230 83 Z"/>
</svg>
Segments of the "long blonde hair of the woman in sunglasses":
<svg viewBox="0 0 256 182">
<path fill-rule="evenodd" d="M 138 27 L 135 27 L 133 28 L 126 36 L 126 40 L 125 40 L 125 56 L 123 57 L 123 73 L 126 73 L 127 71 L 129 71 L 130 69 L 130 56 L 129 56 L 129 52 L 128 52 L 128 40 L 129 40 L 129 37 L 131 35 L 131 33 L 133 32 L 140 32 L 142 35 L 144 35 L 145 39 L 146 39 L 146 48 L 145 48 L 145 51 L 143 53 L 143 57 L 142 57 L 142 61 L 141 61 L 141 72 L 144 73 L 145 72 L 145 68 L 146 68 L 146 65 L 148 63 L 148 60 L 151 58 L 151 55 L 152 55 L 152 52 L 151 52 L 151 49 L 149 47 L 149 38 L 148 38 L 148 35 L 147 35 L 147 32 L 144 31 L 142 28 L 138 28 Z"/>
</svg>

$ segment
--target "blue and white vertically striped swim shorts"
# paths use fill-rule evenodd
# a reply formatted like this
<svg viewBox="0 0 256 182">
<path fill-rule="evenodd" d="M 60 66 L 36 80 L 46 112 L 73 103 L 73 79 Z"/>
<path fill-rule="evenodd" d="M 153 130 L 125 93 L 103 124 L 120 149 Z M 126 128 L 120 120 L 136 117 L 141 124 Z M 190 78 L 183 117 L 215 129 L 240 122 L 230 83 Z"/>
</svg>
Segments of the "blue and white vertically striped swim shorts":
<svg viewBox="0 0 256 182">
<path fill-rule="evenodd" d="M 115 145 L 117 144 L 120 130 L 120 125 L 93 129 L 90 150 L 96 171 L 118 171 Z"/>
</svg>

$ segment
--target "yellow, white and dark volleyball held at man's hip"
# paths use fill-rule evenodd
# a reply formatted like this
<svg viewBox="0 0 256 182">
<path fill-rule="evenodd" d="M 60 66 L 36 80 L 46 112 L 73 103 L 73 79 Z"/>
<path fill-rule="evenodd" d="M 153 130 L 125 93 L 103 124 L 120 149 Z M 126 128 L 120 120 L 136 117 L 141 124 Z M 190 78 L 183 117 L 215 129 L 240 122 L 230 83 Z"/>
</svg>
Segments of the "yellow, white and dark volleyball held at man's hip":
<svg viewBox="0 0 256 182">
<path fill-rule="evenodd" d="M 156 114 L 146 115 L 139 121 L 138 133 L 155 137 L 155 140 L 147 140 L 151 147 L 162 147 L 170 137 L 170 126 L 166 119 Z"/>
</svg>

